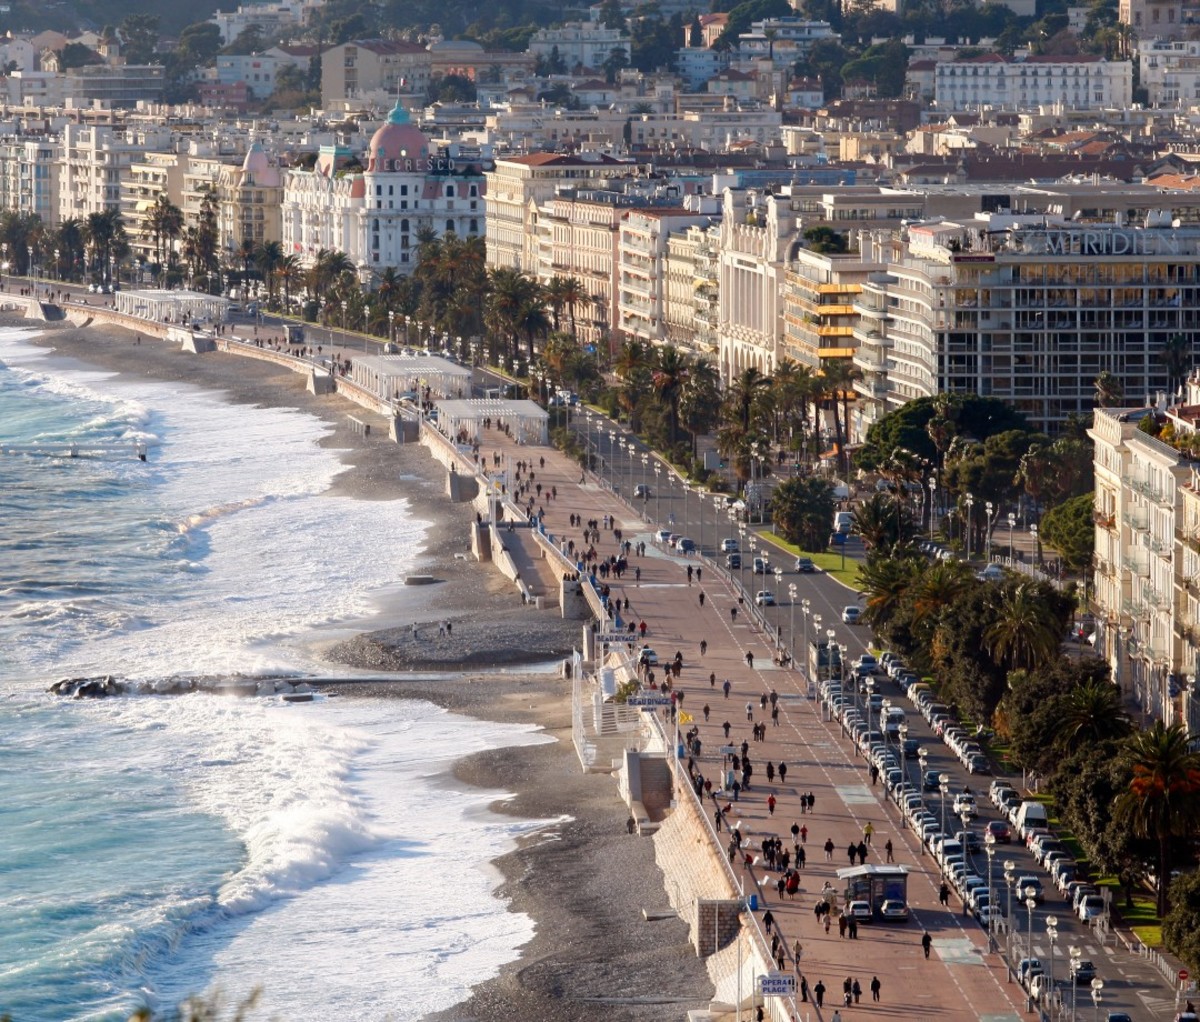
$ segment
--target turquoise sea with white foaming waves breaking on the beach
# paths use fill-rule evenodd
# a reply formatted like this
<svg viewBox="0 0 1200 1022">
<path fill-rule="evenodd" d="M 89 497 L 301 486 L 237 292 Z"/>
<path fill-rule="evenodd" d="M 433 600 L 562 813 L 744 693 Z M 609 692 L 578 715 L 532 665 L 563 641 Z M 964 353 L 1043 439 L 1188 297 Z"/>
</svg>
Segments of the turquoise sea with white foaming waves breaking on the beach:
<svg viewBox="0 0 1200 1022">
<path fill-rule="evenodd" d="M 316 639 L 377 613 L 427 528 L 329 494 L 328 428 L 0 330 L 0 445 L 25 451 L 0 455 L 0 1016 L 257 988 L 250 1018 L 416 1020 L 532 937 L 490 864 L 554 822 L 446 770 L 535 729 L 409 699 L 47 692 L 328 674 Z"/>
</svg>

